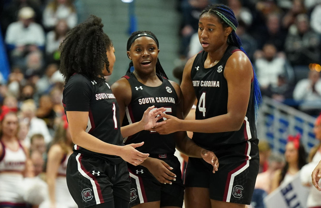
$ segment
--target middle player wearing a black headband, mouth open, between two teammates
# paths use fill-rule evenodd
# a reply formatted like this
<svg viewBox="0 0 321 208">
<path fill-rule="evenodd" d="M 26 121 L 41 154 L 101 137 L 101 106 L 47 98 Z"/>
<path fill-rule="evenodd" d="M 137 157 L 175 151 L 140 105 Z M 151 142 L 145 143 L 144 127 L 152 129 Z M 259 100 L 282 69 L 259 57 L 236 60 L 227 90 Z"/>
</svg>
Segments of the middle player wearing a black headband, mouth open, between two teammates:
<svg viewBox="0 0 321 208">
<path fill-rule="evenodd" d="M 183 118 L 180 88 L 177 83 L 167 79 L 158 53 L 159 43 L 152 32 L 136 31 L 127 41 L 127 55 L 131 60 L 129 69 L 123 78 L 112 85 L 123 125 L 138 121 L 144 109 L 151 104 L 166 106 L 166 113 Z M 133 72 L 130 72 L 131 68 Z M 125 144 L 144 142 L 144 146 L 137 150 L 150 154 L 141 165 L 127 164 L 132 182 L 130 206 L 182 207 L 184 186 L 180 163 L 174 156 L 175 143 L 180 151 L 193 157 L 204 157 L 213 166 L 218 166 L 216 156 L 196 146 L 186 132 L 159 135 L 151 130 L 124 138 Z"/>
</svg>

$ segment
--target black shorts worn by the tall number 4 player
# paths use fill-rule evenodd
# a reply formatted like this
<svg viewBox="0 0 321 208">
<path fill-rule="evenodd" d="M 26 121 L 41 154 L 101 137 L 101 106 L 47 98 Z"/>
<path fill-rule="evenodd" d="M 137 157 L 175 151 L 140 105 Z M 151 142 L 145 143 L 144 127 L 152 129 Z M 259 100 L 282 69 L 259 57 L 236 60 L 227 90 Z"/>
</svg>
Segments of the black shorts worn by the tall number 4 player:
<svg viewBox="0 0 321 208">
<path fill-rule="evenodd" d="M 258 139 L 212 150 L 219 160 L 218 171 L 202 158 L 189 157 L 185 187 L 209 188 L 210 198 L 250 204 L 259 170 Z"/>
</svg>

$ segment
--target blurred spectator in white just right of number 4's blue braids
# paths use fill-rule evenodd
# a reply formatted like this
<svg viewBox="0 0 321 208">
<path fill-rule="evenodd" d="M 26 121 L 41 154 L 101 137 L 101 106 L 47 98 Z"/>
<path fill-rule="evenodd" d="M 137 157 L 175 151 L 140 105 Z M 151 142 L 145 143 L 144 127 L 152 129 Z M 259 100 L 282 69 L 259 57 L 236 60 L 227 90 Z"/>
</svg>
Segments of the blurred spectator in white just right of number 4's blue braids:
<svg viewBox="0 0 321 208">
<path fill-rule="evenodd" d="M 270 43 L 263 46 L 262 57 L 256 59 L 255 67 L 261 89 L 266 89 L 269 85 L 277 86 L 280 74 L 284 74 L 288 80 L 293 79 L 293 69 L 287 63 L 285 55 L 277 54 L 276 47 Z"/>
</svg>

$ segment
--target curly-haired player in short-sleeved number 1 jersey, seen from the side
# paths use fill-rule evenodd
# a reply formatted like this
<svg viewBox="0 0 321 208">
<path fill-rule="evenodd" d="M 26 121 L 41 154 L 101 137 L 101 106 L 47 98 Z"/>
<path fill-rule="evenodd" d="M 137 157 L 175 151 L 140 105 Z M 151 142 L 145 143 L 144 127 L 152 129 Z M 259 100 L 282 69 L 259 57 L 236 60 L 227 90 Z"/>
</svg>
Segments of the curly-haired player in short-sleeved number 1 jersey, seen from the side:
<svg viewBox="0 0 321 208">
<path fill-rule="evenodd" d="M 141 121 L 120 128 L 118 104 L 104 79 L 113 71 L 115 49 L 102 27 L 101 19 L 91 16 L 74 27 L 61 45 L 63 105 L 75 144 L 66 179 L 78 207 L 124 208 L 129 207 L 130 194 L 125 161 L 138 165 L 149 154 L 135 150 L 143 143 L 124 146 L 122 135 L 152 128 L 164 109 L 151 106 Z"/>
</svg>

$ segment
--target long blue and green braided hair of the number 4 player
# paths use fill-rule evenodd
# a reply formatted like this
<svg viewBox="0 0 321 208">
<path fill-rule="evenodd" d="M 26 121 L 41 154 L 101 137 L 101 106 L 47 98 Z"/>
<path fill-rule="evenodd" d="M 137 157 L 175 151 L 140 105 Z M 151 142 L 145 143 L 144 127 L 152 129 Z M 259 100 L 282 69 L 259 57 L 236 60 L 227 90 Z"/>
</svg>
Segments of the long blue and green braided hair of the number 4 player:
<svg viewBox="0 0 321 208">
<path fill-rule="evenodd" d="M 236 28 L 238 27 L 239 23 L 236 20 L 236 17 L 234 15 L 234 12 L 230 9 L 230 7 L 224 5 L 224 4 L 212 4 L 207 6 L 204 11 L 201 13 L 200 17 L 204 13 L 211 13 L 216 15 L 219 19 L 221 19 L 223 27 L 231 27 L 233 30 L 230 33 L 227 43 L 232 46 L 238 47 L 241 51 L 243 51 L 246 55 L 247 53 L 245 50 L 241 47 L 242 42 L 239 38 L 239 36 L 236 35 L 235 31 Z M 251 62 L 252 64 L 252 62 Z M 253 64 L 252 64 L 253 68 Z M 254 100 L 254 107 L 255 107 L 255 114 L 257 115 L 257 110 L 258 110 L 258 105 L 262 101 L 262 95 L 261 95 L 261 90 L 260 90 L 260 85 L 256 77 L 256 73 L 253 70 L 254 73 L 254 80 L 253 80 L 253 100 Z"/>
</svg>

